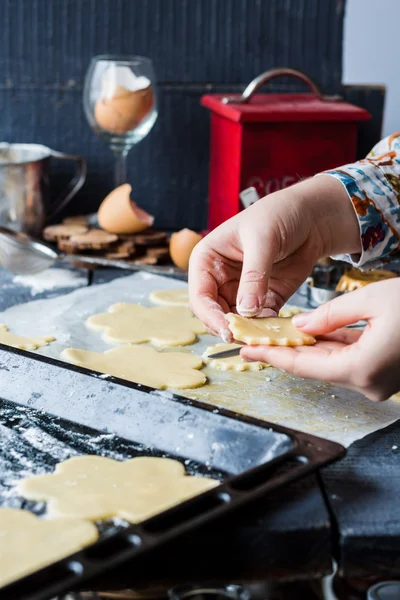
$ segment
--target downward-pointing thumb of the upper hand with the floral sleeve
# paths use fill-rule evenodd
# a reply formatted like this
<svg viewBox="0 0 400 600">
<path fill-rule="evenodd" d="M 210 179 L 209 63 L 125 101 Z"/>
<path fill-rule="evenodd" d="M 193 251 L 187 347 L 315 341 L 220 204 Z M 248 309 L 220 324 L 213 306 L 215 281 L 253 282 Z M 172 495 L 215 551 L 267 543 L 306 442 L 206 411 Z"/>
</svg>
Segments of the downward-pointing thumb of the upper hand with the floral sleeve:
<svg viewBox="0 0 400 600">
<path fill-rule="evenodd" d="M 264 242 L 262 246 L 252 239 L 247 240 L 243 247 L 243 267 L 236 300 L 237 311 L 242 317 L 255 317 L 265 305 L 275 253 L 272 245 Z"/>
</svg>

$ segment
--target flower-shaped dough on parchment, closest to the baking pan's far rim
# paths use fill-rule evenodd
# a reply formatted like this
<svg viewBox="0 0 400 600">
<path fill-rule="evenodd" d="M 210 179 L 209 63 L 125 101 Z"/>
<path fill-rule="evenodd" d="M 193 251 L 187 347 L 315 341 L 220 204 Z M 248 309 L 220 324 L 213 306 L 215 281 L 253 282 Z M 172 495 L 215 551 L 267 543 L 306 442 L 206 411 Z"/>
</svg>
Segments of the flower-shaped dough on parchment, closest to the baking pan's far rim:
<svg viewBox="0 0 400 600">
<path fill-rule="evenodd" d="M 107 352 L 91 352 L 67 348 L 61 358 L 74 365 L 107 373 L 149 387 L 196 388 L 204 385 L 206 376 L 199 356 L 186 352 L 158 352 L 150 346 L 122 346 Z"/>
</svg>

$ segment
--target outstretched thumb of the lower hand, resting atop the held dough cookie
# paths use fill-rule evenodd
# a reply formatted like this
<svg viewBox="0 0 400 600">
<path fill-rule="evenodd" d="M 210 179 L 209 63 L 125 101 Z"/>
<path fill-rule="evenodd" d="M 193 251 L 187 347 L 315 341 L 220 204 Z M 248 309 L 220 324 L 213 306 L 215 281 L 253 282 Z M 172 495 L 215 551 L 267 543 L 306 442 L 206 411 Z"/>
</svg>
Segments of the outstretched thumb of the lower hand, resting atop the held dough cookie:
<svg viewBox="0 0 400 600">
<path fill-rule="evenodd" d="M 372 317 L 372 307 L 368 300 L 368 286 L 355 292 L 348 292 L 330 302 L 322 304 L 309 313 L 295 315 L 293 324 L 311 335 L 324 335 Z"/>
</svg>

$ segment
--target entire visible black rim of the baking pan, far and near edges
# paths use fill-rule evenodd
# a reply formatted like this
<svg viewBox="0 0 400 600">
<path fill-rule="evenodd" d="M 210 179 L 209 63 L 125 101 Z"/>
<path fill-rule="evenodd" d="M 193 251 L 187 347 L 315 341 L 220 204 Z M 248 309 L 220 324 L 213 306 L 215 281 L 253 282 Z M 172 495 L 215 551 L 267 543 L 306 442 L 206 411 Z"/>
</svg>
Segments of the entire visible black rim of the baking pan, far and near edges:
<svg viewBox="0 0 400 600">
<path fill-rule="evenodd" d="M 20 356 L 92 377 L 99 377 L 97 372 L 63 361 L 5 345 L 0 345 L 0 347 Z M 157 392 L 152 388 L 114 377 L 107 378 L 107 381 L 145 392 Z M 216 410 L 214 406 L 178 395 L 171 394 L 168 399 L 190 404 L 209 412 Z M 14 402 L 14 404 L 16 403 Z M 46 600 L 67 591 L 82 588 L 83 584 L 86 585 L 99 577 L 102 579 L 107 576 L 111 577 L 113 571 L 127 563 L 134 566 L 137 556 L 148 554 L 151 550 L 158 549 L 185 534 L 194 533 L 201 527 L 232 514 L 233 511 L 240 510 L 251 502 L 265 498 L 274 490 L 315 472 L 318 468 L 345 454 L 345 449 L 335 442 L 226 409 L 218 408 L 218 413 L 227 418 L 283 433 L 291 439 L 292 446 L 288 451 L 267 463 L 255 466 L 239 475 L 228 477 L 212 490 L 180 503 L 138 525 L 132 525 L 114 533 L 82 551 L 10 583 L 0 590 L 1 600 L 15 600 L 15 598 Z M 47 412 L 47 414 L 51 413 Z"/>
</svg>

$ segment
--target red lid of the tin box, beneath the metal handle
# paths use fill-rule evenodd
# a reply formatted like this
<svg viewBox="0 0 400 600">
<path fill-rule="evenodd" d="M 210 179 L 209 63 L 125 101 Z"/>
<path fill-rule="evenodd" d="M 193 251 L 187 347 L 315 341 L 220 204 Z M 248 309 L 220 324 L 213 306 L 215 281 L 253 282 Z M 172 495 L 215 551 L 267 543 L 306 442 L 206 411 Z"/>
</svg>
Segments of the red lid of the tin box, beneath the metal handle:
<svg viewBox="0 0 400 600">
<path fill-rule="evenodd" d="M 207 94 L 201 104 L 236 123 L 284 121 L 367 121 L 370 113 L 342 100 L 323 100 L 315 94 L 255 94 L 246 104 L 223 103 L 226 94 Z M 230 98 L 240 98 L 232 94 Z"/>
</svg>

